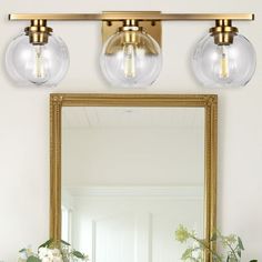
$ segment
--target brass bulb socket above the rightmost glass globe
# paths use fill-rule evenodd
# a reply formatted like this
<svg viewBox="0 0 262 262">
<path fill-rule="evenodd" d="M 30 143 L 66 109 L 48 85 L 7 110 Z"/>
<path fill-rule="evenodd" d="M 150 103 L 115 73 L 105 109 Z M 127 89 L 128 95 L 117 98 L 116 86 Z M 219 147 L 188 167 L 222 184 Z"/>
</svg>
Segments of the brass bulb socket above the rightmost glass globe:
<svg viewBox="0 0 262 262">
<path fill-rule="evenodd" d="M 214 43 L 218 46 L 232 44 L 238 32 L 238 28 L 232 27 L 231 20 L 215 20 L 215 27 L 210 29 Z"/>
</svg>

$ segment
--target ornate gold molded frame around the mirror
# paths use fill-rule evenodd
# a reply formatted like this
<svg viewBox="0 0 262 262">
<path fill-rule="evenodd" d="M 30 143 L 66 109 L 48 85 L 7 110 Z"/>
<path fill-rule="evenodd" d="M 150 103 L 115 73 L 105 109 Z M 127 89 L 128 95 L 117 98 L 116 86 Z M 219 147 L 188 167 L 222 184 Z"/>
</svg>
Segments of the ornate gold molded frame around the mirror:
<svg viewBox="0 0 262 262">
<path fill-rule="evenodd" d="M 218 95 L 215 94 L 50 94 L 50 238 L 61 238 L 61 123 L 63 107 L 190 107 L 204 108 L 204 230 L 216 229 Z M 215 246 L 211 246 L 215 249 Z M 205 253 L 211 262 L 211 254 Z"/>
</svg>

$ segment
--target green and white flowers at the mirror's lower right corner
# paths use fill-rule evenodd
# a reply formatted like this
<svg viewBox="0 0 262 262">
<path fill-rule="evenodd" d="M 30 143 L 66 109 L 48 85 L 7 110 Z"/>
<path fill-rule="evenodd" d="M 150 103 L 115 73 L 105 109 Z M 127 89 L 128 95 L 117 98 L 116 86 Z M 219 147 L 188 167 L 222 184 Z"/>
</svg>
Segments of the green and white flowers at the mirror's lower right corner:
<svg viewBox="0 0 262 262">
<path fill-rule="evenodd" d="M 213 233 L 210 241 L 199 239 L 194 231 L 189 231 L 185 226 L 180 225 L 175 231 L 175 239 L 181 243 L 190 242 L 189 248 L 182 254 L 182 261 L 204 261 L 204 251 L 208 251 L 212 255 L 213 262 L 240 262 L 242 251 L 244 251 L 241 239 L 231 234 L 228 236 L 222 235 L 219 231 Z M 219 253 L 210 249 L 210 244 L 216 242 L 223 248 L 223 252 Z M 251 260 L 250 262 L 258 262 L 258 260 Z"/>
</svg>

